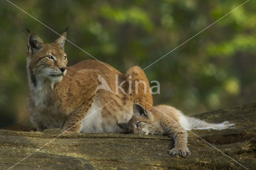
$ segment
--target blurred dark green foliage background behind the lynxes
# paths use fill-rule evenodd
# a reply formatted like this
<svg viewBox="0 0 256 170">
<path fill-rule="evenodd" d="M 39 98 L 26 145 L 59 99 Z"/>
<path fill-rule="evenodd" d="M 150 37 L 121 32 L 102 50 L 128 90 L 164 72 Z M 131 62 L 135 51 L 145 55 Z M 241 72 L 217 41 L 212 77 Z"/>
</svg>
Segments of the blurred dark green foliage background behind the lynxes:
<svg viewBox="0 0 256 170">
<path fill-rule="evenodd" d="M 122 73 L 146 68 L 246 0 L 10 0 Z M 33 126 L 26 112 L 28 28 L 44 42 L 59 36 L 0 1 L 0 127 Z M 66 42 L 68 65 L 92 59 Z M 256 1 L 250 0 L 145 69 L 160 82 L 154 105 L 186 115 L 256 101 Z M 153 84 L 155 85 L 155 84 Z"/>
</svg>

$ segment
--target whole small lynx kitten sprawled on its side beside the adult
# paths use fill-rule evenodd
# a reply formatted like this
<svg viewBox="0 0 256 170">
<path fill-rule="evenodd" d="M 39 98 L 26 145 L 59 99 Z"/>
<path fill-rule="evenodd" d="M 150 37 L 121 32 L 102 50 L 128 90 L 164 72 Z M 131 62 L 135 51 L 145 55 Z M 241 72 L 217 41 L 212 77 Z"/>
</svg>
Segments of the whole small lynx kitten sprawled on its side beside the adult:
<svg viewBox="0 0 256 170">
<path fill-rule="evenodd" d="M 170 150 L 171 155 L 190 155 L 190 151 L 187 147 L 186 130 L 225 129 L 234 128 L 235 126 L 234 124 L 229 124 L 228 121 L 213 124 L 193 117 L 187 117 L 179 110 L 167 105 L 158 105 L 155 108 L 146 110 L 142 105 L 134 103 L 133 112 L 134 116 L 128 123 L 117 123 L 117 125 L 131 134 L 170 136 L 173 133 L 174 148 Z"/>
</svg>

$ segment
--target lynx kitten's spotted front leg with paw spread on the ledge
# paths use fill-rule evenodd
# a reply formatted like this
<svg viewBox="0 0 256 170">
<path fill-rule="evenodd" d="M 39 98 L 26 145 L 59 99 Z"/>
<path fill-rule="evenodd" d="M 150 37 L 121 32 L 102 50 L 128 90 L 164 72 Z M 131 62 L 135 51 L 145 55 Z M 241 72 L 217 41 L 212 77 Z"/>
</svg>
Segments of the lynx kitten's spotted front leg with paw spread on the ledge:
<svg viewBox="0 0 256 170">
<path fill-rule="evenodd" d="M 174 142 L 174 148 L 170 150 L 170 155 L 186 156 L 191 154 L 187 147 L 187 132 L 184 128 L 179 127 L 178 130 L 174 131 Z"/>
</svg>

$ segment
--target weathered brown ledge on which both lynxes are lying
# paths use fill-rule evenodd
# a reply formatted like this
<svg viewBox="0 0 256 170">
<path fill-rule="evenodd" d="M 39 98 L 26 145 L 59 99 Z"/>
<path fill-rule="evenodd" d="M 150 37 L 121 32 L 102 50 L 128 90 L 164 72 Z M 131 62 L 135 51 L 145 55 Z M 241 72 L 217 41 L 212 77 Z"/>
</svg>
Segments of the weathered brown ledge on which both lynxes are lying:
<svg viewBox="0 0 256 170">
<path fill-rule="evenodd" d="M 214 123 L 229 121 L 236 129 L 188 132 L 191 156 L 183 158 L 168 154 L 174 142 L 165 136 L 114 132 L 60 135 L 60 129 L 25 132 L 34 129 L 9 127 L 0 130 L 0 169 L 27 156 L 13 169 L 256 169 L 256 103 L 194 117 Z"/>
</svg>

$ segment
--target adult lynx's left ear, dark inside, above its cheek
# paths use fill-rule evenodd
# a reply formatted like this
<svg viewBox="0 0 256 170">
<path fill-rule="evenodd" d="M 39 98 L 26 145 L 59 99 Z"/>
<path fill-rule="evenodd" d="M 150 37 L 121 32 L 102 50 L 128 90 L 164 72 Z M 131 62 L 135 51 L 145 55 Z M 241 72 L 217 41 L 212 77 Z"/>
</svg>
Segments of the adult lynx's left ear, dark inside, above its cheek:
<svg viewBox="0 0 256 170">
<path fill-rule="evenodd" d="M 43 40 L 36 35 L 34 32 L 30 32 L 28 36 L 28 50 L 30 55 L 34 55 L 38 53 L 41 49 L 42 44 L 44 44 Z"/>
</svg>

